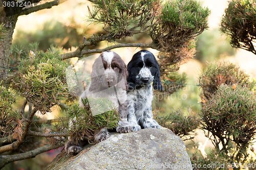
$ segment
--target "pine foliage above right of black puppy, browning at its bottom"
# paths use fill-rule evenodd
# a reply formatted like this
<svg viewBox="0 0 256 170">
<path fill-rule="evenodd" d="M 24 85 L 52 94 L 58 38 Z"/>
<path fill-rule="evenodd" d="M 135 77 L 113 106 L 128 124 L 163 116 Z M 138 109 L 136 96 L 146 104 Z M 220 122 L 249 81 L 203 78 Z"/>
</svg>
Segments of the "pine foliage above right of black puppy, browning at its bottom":
<svg viewBox="0 0 256 170">
<path fill-rule="evenodd" d="M 163 67 L 187 62 L 196 52 L 194 38 L 208 29 L 208 8 L 202 8 L 195 0 L 167 1 L 162 6 L 159 22 L 150 32 L 152 40 L 165 50 L 159 53 Z"/>
</svg>

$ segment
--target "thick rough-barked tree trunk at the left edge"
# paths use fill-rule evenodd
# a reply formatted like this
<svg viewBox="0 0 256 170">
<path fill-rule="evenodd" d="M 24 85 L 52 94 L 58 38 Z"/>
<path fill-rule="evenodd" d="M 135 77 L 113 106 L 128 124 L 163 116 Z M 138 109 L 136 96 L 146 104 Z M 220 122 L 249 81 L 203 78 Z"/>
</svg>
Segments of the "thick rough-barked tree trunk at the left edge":
<svg viewBox="0 0 256 170">
<path fill-rule="evenodd" d="M 18 8 L 4 7 L 4 1 L 0 1 L 0 24 L 4 23 L 5 36 L 4 40 L 0 42 L 0 83 L 6 84 L 6 81 L 11 75 L 8 75 L 9 69 L 7 69 L 10 48 L 12 43 L 12 34 L 18 19 Z"/>
</svg>

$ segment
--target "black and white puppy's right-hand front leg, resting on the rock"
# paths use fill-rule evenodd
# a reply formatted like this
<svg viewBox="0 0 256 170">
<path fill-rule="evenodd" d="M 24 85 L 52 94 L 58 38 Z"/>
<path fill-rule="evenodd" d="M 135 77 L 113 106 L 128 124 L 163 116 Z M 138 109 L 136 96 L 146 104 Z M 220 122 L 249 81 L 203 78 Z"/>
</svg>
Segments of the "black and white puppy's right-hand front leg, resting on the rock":
<svg viewBox="0 0 256 170">
<path fill-rule="evenodd" d="M 152 108 L 148 108 L 144 111 L 143 118 L 140 119 L 140 124 L 143 128 L 161 128 L 156 120 L 153 119 Z"/>
</svg>

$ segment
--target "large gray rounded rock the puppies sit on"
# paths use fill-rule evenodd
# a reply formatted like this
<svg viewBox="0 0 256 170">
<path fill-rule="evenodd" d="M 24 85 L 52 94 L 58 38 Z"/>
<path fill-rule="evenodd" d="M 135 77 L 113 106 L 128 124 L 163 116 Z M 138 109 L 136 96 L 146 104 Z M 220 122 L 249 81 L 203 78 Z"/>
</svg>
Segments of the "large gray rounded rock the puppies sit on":
<svg viewBox="0 0 256 170">
<path fill-rule="evenodd" d="M 76 156 L 60 154 L 46 169 L 192 169 L 184 142 L 172 131 L 112 134 Z"/>
</svg>

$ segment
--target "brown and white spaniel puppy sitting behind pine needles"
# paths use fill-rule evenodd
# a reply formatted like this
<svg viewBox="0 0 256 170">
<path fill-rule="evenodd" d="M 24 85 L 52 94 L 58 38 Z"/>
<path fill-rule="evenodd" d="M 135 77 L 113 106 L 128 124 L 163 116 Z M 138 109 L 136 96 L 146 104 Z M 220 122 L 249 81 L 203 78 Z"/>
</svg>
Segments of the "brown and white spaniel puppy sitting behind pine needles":
<svg viewBox="0 0 256 170">
<path fill-rule="evenodd" d="M 108 98 L 119 110 L 119 122 L 116 128 L 119 133 L 131 132 L 131 126 L 127 122 L 127 96 L 128 89 L 126 79 L 127 66 L 121 57 L 113 51 L 103 52 L 94 62 L 91 72 L 91 83 L 80 96 L 80 106 L 83 107 L 82 99 L 87 97 Z M 90 104 L 90 101 L 89 101 Z M 90 106 L 91 107 L 91 106 Z M 94 113 L 93 113 L 94 114 Z M 97 114 L 97 113 L 96 113 Z M 108 129 L 103 128 L 94 134 L 95 141 L 101 142 L 110 137 Z M 75 155 L 82 150 L 79 144 L 71 141 L 70 138 L 65 147 L 69 154 Z"/>
</svg>

